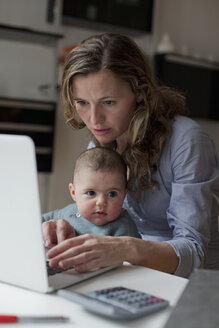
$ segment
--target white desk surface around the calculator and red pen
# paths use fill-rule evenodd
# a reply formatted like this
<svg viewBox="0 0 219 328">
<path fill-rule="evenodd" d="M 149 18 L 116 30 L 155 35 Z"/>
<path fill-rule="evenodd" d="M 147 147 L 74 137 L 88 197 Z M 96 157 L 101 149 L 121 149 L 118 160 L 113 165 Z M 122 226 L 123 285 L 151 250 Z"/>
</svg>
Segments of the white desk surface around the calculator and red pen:
<svg viewBox="0 0 219 328">
<path fill-rule="evenodd" d="M 100 276 L 74 285 L 68 290 L 86 293 L 94 289 L 124 286 L 163 297 L 170 307 L 139 320 L 118 322 L 86 312 L 81 306 L 52 294 L 40 294 L 0 283 L 0 314 L 16 315 L 64 315 L 70 317 L 66 324 L 25 324 L 29 327 L 75 327 L 75 328 L 161 328 L 165 325 L 172 307 L 177 303 L 188 280 L 139 266 L 123 265 Z M 1 328 L 15 325 L 1 324 Z M 16 326 L 21 326 L 17 324 Z M 22 325 L 24 327 L 24 324 Z"/>
</svg>

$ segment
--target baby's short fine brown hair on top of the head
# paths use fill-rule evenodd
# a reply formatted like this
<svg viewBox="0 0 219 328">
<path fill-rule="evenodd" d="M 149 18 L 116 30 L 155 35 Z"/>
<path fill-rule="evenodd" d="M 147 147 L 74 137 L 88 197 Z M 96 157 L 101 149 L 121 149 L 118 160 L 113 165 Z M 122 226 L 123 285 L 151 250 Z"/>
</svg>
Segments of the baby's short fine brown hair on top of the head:
<svg viewBox="0 0 219 328">
<path fill-rule="evenodd" d="M 102 173 L 120 173 L 124 177 L 125 186 L 127 186 L 126 164 L 123 158 L 112 149 L 95 147 L 82 152 L 75 163 L 73 180 L 74 176 L 84 167 Z"/>
</svg>

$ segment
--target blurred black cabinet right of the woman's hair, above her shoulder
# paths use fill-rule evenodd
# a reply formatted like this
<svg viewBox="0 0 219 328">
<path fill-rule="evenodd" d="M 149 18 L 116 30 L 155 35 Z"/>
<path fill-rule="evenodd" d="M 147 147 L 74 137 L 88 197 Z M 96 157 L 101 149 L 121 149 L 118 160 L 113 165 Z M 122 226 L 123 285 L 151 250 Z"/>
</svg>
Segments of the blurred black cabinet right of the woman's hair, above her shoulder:
<svg viewBox="0 0 219 328">
<path fill-rule="evenodd" d="M 219 120 L 219 64 L 178 54 L 157 54 L 154 66 L 161 83 L 181 91 L 190 116 Z"/>
</svg>

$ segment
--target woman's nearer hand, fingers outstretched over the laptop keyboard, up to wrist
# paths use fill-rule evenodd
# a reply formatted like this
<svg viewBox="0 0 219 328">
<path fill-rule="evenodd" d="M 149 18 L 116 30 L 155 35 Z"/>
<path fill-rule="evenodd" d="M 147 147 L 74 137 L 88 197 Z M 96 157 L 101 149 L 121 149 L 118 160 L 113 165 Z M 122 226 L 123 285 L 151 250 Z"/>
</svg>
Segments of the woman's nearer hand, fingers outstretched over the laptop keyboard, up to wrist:
<svg viewBox="0 0 219 328">
<path fill-rule="evenodd" d="M 51 267 L 60 266 L 65 269 L 74 266 L 78 272 L 94 271 L 125 261 L 129 239 L 130 237 L 81 235 L 61 242 L 49 250 L 47 256 Z"/>
</svg>

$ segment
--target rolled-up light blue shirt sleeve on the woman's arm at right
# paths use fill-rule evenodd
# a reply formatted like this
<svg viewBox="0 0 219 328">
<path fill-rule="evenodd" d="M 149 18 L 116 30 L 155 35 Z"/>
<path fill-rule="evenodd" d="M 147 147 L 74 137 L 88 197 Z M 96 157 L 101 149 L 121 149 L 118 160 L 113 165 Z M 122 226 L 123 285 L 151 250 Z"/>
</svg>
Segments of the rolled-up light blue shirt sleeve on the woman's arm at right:
<svg viewBox="0 0 219 328">
<path fill-rule="evenodd" d="M 168 224 L 173 231 L 168 243 L 174 248 L 179 265 L 176 275 L 188 277 L 203 265 L 212 217 L 212 193 L 219 183 L 214 146 L 200 129 L 183 136 L 172 147 L 172 193 L 167 209 Z"/>
</svg>

